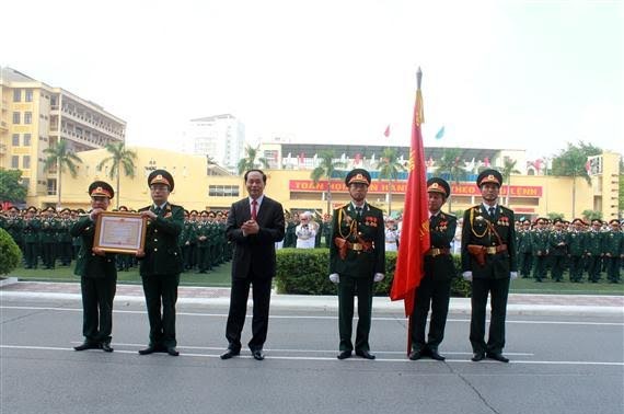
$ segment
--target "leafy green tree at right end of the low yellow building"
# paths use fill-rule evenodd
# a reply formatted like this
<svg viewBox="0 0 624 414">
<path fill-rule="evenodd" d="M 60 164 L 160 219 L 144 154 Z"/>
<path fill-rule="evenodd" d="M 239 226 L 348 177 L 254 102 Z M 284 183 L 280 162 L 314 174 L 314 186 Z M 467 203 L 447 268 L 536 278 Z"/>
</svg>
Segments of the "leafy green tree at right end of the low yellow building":
<svg viewBox="0 0 624 414">
<path fill-rule="evenodd" d="M 568 142 L 568 148 L 553 159 L 553 175 L 573 177 L 573 218 L 576 217 L 576 179 L 581 177 L 591 184 L 591 177 L 587 173 L 587 158 L 600 153 L 602 150 L 591 143 L 580 141 L 574 146 Z"/>
</svg>

